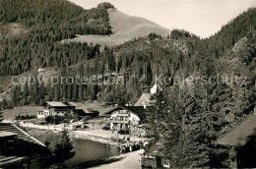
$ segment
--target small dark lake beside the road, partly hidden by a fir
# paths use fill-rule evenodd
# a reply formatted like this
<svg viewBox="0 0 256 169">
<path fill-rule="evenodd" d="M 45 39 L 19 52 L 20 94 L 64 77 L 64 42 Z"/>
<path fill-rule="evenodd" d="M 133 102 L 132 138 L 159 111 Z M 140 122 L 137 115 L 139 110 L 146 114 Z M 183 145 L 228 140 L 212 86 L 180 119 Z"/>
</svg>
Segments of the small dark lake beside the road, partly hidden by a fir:
<svg viewBox="0 0 256 169">
<path fill-rule="evenodd" d="M 51 141 L 50 146 L 52 148 L 54 147 L 54 144 L 60 139 L 59 134 L 52 132 L 38 132 L 36 134 L 32 134 L 32 136 L 41 142 L 44 142 L 46 138 L 49 138 Z M 71 166 L 120 154 L 120 149 L 118 146 L 76 138 L 72 138 L 72 141 L 75 144 L 76 155 L 73 158 L 65 161 L 66 164 Z"/>
</svg>

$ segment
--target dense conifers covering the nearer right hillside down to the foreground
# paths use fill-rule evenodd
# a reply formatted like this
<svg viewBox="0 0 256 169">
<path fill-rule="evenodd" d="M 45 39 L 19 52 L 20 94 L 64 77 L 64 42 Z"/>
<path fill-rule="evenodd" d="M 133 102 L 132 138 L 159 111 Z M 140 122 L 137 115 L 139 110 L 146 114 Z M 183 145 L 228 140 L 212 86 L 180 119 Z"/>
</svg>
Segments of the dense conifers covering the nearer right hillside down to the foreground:
<svg viewBox="0 0 256 169">
<path fill-rule="evenodd" d="M 214 53 L 198 56 L 200 65 L 192 77 L 205 77 L 208 83 L 193 82 L 192 86 L 163 90 L 163 100 L 168 101 L 156 111 L 160 127 L 152 132 L 156 138 L 166 139 L 164 153 L 173 168 L 226 168 L 236 162 L 234 150 L 216 141 L 253 113 L 255 44 L 256 32 L 247 32 L 220 58 Z M 157 125 L 153 123 L 151 129 Z"/>
</svg>

